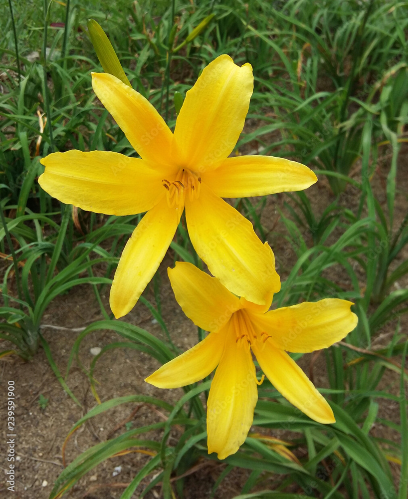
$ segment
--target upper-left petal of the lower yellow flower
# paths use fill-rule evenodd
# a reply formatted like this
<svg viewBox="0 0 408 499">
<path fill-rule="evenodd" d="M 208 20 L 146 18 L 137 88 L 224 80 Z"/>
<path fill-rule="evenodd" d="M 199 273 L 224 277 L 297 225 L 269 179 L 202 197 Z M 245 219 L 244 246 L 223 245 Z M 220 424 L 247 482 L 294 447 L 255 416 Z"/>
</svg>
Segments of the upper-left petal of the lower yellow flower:
<svg viewBox="0 0 408 499">
<path fill-rule="evenodd" d="M 176 262 L 168 274 L 184 313 L 205 331 L 218 331 L 240 308 L 239 299 L 215 277 L 187 262 Z"/>
</svg>

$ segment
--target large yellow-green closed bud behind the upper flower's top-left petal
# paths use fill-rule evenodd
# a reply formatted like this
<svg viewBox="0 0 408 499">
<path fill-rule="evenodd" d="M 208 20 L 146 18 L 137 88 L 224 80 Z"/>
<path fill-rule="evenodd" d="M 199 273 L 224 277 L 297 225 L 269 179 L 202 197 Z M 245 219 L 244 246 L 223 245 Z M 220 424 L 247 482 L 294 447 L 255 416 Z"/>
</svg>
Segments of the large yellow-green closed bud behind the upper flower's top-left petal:
<svg viewBox="0 0 408 499">
<path fill-rule="evenodd" d="M 94 19 L 88 19 L 88 32 L 105 73 L 113 74 L 132 88 L 109 38 Z"/>
</svg>

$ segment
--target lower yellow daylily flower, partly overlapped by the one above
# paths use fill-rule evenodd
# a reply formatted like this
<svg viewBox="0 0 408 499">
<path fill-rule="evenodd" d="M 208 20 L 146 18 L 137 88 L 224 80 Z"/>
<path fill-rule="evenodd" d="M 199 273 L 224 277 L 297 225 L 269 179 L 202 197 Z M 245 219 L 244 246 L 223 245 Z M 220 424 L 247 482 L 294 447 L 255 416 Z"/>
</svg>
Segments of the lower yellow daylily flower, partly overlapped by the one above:
<svg viewBox="0 0 408 499">
<path fill-rule="evenodd" d="M 211 332 L 145 381 L 177 388 L 216 368 L 207 400 L 208 454 L 234 454 L 252 425 L 258 381 L 251 351 L 289 402 L 319 423 L 335 422 L 329 404 L 286 352 L 312 352 L 344 338 L 357 325 L 352 302 L 328 298 L 268 311 L 271 301 L 238 298 L 191 263 L 177 262 L 168 273 L 185 314 Z"/>
</svg>

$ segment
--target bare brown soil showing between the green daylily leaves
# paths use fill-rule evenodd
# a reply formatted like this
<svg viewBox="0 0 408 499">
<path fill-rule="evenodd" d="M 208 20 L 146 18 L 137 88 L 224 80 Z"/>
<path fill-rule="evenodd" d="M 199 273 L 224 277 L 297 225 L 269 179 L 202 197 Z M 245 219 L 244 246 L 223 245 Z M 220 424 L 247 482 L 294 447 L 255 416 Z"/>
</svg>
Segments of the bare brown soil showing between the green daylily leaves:
<svg viewBox="0 0 408 499">
<path fill-rule="evenodd" d="M 404 155 L 407 158 L 407 155 Z M 399 195 L 396 210 L 396 227 L 402 222 L 408 211 L 408 175 L 407 163 L 401 164 L 398 176 Z M 386 178 L 386 167 L 377 172 L 373 182 L 377 183 L 377 194 L 382 206 L 385 205 L 385 186 L 383 180 Z M 358 173 L 356 173 L 358 178 Z M 334 197 L 325 180 L 309 189 L 308 197 L 311 199 L 316 213 L 322 213 Z M 355 203 L 356 196 L 353 192 L 346 191 L 341 197 L 340 203 L 350 208 Z M 271 196 L 263 212 L 263 223 L 267 230 L 274 231 L 270 236 L 270 243 L 277 254 L 285 252 L 285 265 L 280 269 L 281 277 L 290 268 L 290 263 L 295 261 L 295 255 L 287 247 L 286 241 L 279 234 L 284 233 L 282 223 L 278 218 L 277 207 L 283 206 L 286 195 Z M 406 249 L 407 250 L 407 249 Z M 405 253 L 402 258 L 407 258 Z M 163 285 L 162 290 L 162 312 L 167 327 L 171 333 L 173 342 L 181 351 L 188 349 L 197 343 L 197 328 L 189 321 L 174 299 L 170 283 L 167 278 L 167 266 L 172 264 L 173 255 L 169 251 L 165 261 L 161 264 L 159 272 Z M 0 262 L 1 264 L 1 262 Z M 341 275 L 339 276 L 341 278 Z M 406 287 L 407 282 L 400 282 L 400 287 Z M 102 297 L 108 303 L 109 289 L 105 290 Z M 148 289 L 146 297 L 154 303 L 153 292 Z M 49 343 L 53 358 L 62 373 L 69 359 L 72 345 L 77 338 L 81 328 L 84 328 L 95 320 L 103 319 L 98 303 L 90 290 L 85 286 L 73 288 L 68 294 L 59 296 L 47 309 L 41 327 L 42 334 Z M 147 331 L 164 337 L 160 325 L 153 319 L 151 312 L 141 303 L 124 318 L 132 324 L 136 324 Z M 403 330 L 407 328 L 407 316 L 401 322 Z M 374 347 L 387 346 L 394 333 L 395 324 L 390 324 L 389 329 L 382 330 L 374 340 Z M 118 336 L 111 331 L 95 331 L 89 334 L 82 342 L 79 357 L 85 367 L 89 367 L 93 355 L 91 349 L 103 347 L 113 341 L 118 341 Z M 0 349 L 6 348 L 5 343 L 0 344 Z M 309 373 L 311 357 L 304 356 L 301 359 L 303 369 Z M 327 377 L 324 372 L 324 359 L 314 364 L 313 374 L 317 386 L 327 385 Z M 168 402 L 175 402 L 183 393 L 181 389 L 160 390 L 143 380 L 159 367 L 159 363 L 148 355 L 133 349 L 118 348 L 110 350 L 103 355 L 97 363 L 95 377 L 99 384 L 97 392 L 101 401 L 113 397 L 125 395 L 142 394 L 161 398 Z M 0 468 L 6 471 L 6 386 L 9 380 L 15 383 L 16 395 L 16 492 L 7 491 L 5 483 L 6 476 L 0 480 L 0 497 L 15 499 L 46 499 L 53 487 L 53 483 L 63 470 L 62 446 L 72 426 L 92 407 L 96 405 L 95 398 L 90 390 L 90 384 L 85 373 L 74 361 L 70 370 L 67 384 L 77 397 L 81 406 L 76 405 L 73 400 L 63 391 L 60 383 L 53 374 L 44 351 L 40 348 L 35 358 L 30 362 L 23 362 L 18 357 L 8 356 L 0 360 Z M 394 372 L 388 372 L 383 380 L 384 389 L 398 393 L 399 377 Z M 44 399 L 47 399 L 44 402 Z M 381 403 L 381 401 L 380 401 Z M 125 422 L 131 422 L 132 428 L 137 428 L 157 422 L 165 418 L 164 414 L 149 405 L 142 405 L 134 413 L 136 404 L 121 405 L 87 422 L 69 440 L 65 457 L 70 463 L 81 452 L 89 447 L 115 436 Z M 397 408 L 392 407 L 388 401 L 383 401 L 379 416 L 393 419 L 398 422 Z M 130 418 L 130 419 L 129 419 Z M 129 421 L 128 421 L 129 420 Z M 398 438 L 390 434 L 390 430 L 381 425 L 373 429 L 377 436 L 386 438 Z M 154 438 L 155 435 L 151 435 Z M 156 435 L 160 438 L 160 432 Z M 172 436 L 177 439 L 177 435 Z M 67 499 L 110 499 L 119 498 L 124 488 L 149 457 L 143 454 L 128 454 L 110 459 L 94 471 L 86 475 L 65 496 Z M 120 472 L 115 475 L 115 468 L 121 467 Z M 219 477 L 225 465 L 221 462 L 199 462 L 194 473 L 188 477 L 185 487 L 186 499 L 208 498 L 215 480 Z M 398 467 L 396 466 L 396 476 Z M 246 475 L 238 470 L 228 475 L 224 480 L 215 499 L 229 499 L 238 495 L 244 483 Z M 143 482 L 147 485 L 147 482 Z M 300 491 L 299 491 L 300 492 Z M 135 496 L 136 497 L 136 496 Z M 160 487 L 154 488 L 147 496 L 148 499 L 161 498 Z"/>
</svg>

